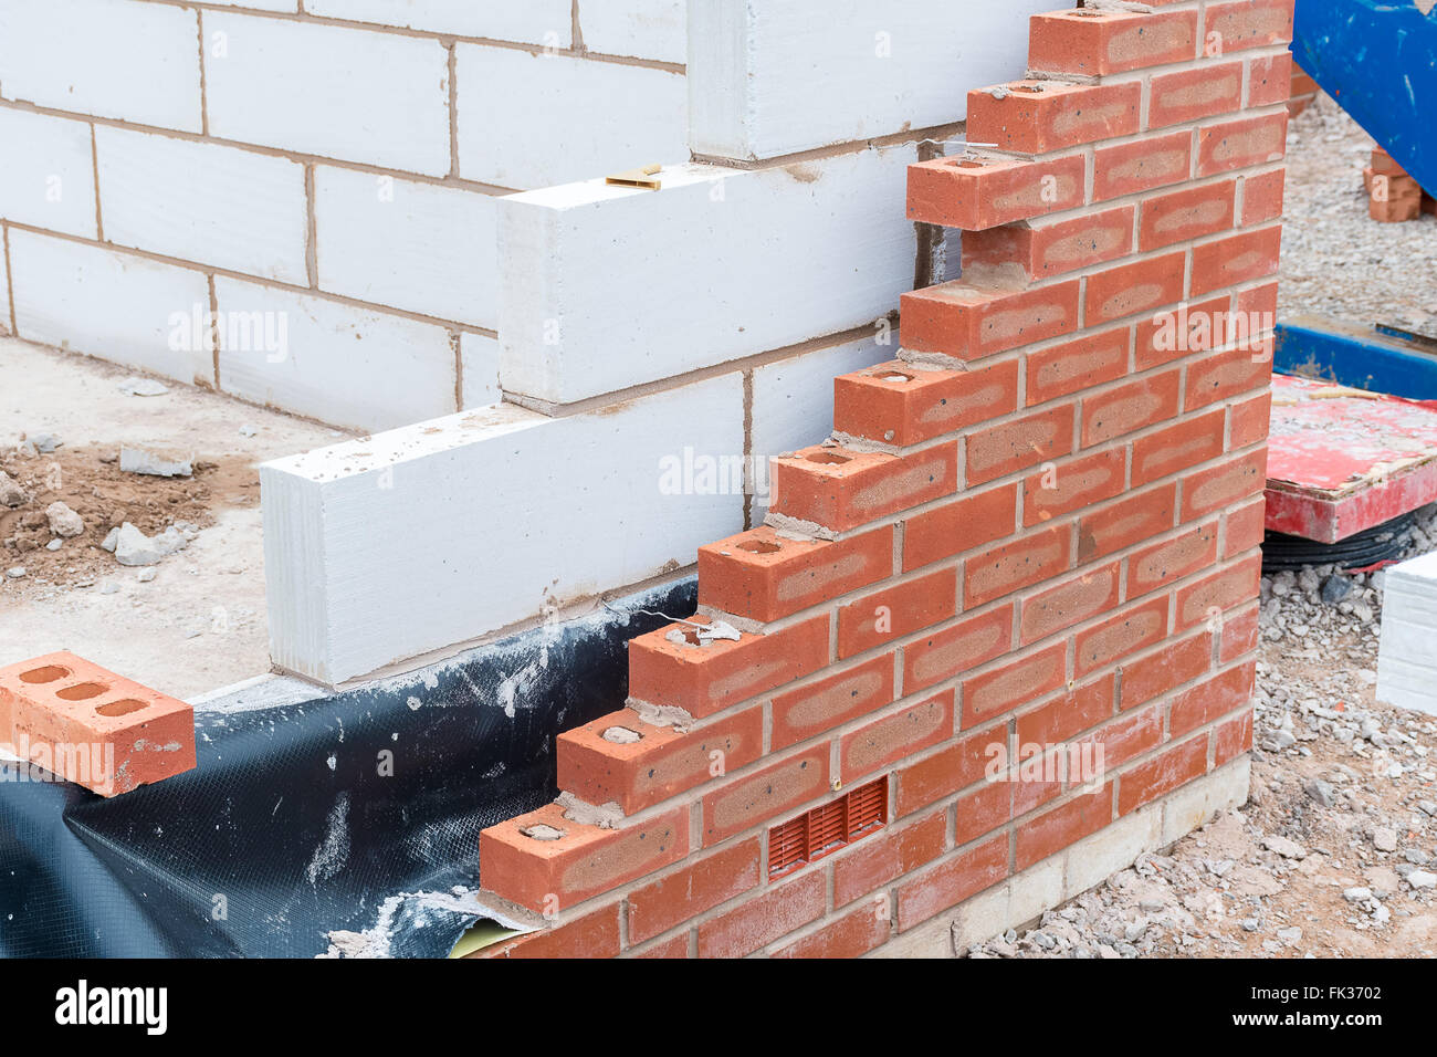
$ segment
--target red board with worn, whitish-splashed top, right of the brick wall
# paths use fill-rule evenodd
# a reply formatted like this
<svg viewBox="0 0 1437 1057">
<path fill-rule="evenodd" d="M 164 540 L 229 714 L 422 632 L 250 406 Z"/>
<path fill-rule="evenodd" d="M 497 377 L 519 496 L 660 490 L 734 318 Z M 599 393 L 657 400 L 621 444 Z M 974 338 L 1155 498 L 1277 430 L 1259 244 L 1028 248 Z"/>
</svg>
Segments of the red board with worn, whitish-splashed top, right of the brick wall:
<svg viewBox="0 0 1437 1057">
<path fill-rule="evenodd" d="M 1272 380 L 1267 528 L 1334 544 L 1437 500 L 1437 408 Z"/>
</svg>

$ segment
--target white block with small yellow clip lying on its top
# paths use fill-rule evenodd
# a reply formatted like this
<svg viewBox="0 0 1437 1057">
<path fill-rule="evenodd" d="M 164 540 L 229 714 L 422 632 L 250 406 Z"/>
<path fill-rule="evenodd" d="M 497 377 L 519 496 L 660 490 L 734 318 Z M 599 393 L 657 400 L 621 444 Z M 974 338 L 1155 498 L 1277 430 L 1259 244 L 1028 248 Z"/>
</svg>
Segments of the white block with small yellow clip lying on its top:
<svg viewBox="0 0 1437 1057">
<path fill-rule="evenodd" d="M 499 206 L 506 391 L 555 404 L 869 326 L 912 288 L 912 147 L 674 165 Z"/>
</svg>

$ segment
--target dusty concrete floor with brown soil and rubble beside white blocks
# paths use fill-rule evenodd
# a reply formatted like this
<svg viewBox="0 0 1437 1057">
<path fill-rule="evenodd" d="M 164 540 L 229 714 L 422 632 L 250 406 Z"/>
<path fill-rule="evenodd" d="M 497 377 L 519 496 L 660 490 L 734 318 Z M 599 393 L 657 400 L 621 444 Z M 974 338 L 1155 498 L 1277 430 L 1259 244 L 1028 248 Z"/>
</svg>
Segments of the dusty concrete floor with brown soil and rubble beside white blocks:
<svg viewBox="0 0 1437 1057">
<path fill-rule="evenodd" d="M 14 544 L 0 549 L 0 664 L 68 649 L 187 697 L 269 670 L 257 465 L 348 434 L 174 383 L 164 395 L 126 395 L 119 383 L 134 374 L 0 338 L 0 466 L 39 492 L 0 512 L 0 539 Z M 17 452 L 39 433 L 63 446 Z M 188 453 L 195 473 L 121 473 L 106 462 L 121 444 Z M 55 500 L 86 529 L 52 552 L 47 526 L 22 522 Z M 99 549 L 115 516 L 147 534 L 175 522 L 200 534 L 144 582 Z M 3 575 L 16 567 L 23 578 Z"/>
</svg>

